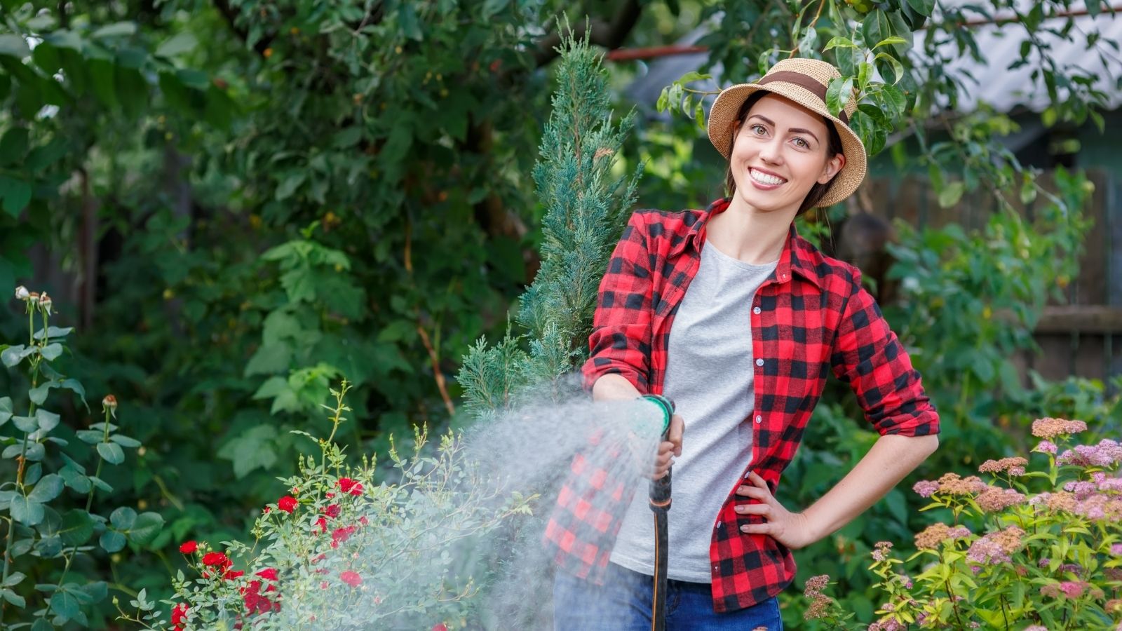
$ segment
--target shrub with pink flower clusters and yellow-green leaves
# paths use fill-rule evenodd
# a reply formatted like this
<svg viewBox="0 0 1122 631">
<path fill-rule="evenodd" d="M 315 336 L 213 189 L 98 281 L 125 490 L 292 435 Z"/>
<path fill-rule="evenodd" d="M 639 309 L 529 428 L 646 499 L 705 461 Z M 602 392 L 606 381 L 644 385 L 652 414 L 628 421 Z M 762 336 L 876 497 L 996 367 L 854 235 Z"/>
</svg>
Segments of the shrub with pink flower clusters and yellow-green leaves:
<svg viewBox="0 0 1122 631">
<path fill-rule="evenodd" d="M 885 598 L 867 629 L 1122 630 L 1122 445 L 1064 448 L 1086 429 L 1064 419 L 1032 423 L 1041 439 L 1032 451 L 1047 457 L 1046 470 L 1010 457 L 978 467 L 988 482 L 953 473 L 918 482 L 913 491 L 931 499 L 923 510 L 948 511 L 953 523 L 916 534 L 908 560 L 929 563 L 914 577 L 899 571 L 904 561 L 892 556 L 892 543 L 877 543 L 870 569 Z M 858 628 L 824 593 L 828 582 L 807 582 L 806 618 Z"/>
</svg>

